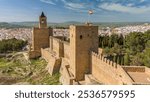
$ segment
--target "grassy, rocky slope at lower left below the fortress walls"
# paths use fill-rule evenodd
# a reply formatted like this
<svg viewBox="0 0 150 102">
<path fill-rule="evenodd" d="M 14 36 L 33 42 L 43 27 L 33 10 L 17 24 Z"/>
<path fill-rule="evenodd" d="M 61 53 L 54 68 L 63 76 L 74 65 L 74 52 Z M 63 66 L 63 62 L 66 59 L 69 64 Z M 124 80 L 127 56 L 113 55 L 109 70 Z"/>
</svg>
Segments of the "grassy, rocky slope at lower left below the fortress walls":
<svg viewBox="0 0 150 102">
<path fill-rule="evenodd" d="M 42 59 L 27 61 L 22 53 L 0 58 L 0 84 L 58 85 L 60 74 L 51 76 Z"/>
</svg>

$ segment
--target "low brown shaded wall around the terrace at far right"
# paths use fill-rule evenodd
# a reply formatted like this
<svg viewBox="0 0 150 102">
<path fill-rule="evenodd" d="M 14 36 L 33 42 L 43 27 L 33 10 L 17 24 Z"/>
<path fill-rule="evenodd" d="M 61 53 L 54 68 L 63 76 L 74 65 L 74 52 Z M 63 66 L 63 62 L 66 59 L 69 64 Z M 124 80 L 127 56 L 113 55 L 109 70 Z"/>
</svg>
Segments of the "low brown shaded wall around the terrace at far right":
<svg viewBox="0 0 150 102">
<path fill-rule="evenodd" d="M 123 66 L 126 72 L 145 72 L 145 66 Z"/>
</svg>

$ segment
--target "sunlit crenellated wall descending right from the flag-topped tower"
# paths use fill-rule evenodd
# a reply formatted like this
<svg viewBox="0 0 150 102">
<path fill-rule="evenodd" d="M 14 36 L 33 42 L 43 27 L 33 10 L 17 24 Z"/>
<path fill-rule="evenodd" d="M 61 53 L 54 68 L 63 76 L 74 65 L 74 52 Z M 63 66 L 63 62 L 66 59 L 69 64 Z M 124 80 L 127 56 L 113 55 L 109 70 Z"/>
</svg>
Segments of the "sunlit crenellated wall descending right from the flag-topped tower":
<svg viewBox="0 0 150 102">
<path fill-rule="evenodd" d="M 97 53 L 92 56 L 92 75 L 104 84 L 132 84 L 131 78 L 123 68 Z"/>
</svg>

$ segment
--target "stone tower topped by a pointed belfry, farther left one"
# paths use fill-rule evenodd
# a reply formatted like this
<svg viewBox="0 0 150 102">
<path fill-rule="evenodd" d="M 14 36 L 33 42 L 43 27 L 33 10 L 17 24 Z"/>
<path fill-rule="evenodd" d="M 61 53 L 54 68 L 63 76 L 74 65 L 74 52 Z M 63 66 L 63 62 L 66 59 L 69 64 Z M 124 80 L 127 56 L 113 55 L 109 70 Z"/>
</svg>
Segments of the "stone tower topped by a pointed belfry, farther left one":
<svg viewBox="0 0 150 102">
<path fill-rule="evenodd" d="M 53 35 L 53 29 L 47 27 L 47 17 L 42 14 L 39 17 L 39 27 L 34 27 L 32 32 L 32 49 L 29 58 L 41 56 L 41 48 L 49 47 L 49 36 Z"/>
</svg>

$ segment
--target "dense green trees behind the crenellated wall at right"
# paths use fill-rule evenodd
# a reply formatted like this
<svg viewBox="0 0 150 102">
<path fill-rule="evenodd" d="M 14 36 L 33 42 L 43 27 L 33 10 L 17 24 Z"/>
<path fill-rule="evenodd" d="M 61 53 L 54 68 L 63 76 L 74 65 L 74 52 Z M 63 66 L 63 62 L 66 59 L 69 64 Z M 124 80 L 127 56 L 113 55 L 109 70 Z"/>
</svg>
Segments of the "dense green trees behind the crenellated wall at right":
<svg viewBox="0 0 150 102">
<path fill-rule="evenodd" d="M 133 32 L 127 36 L 99 36 L 103 54 L 120 65 L 150 67 L 150 31 Z"/>
</svg>

